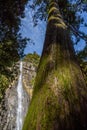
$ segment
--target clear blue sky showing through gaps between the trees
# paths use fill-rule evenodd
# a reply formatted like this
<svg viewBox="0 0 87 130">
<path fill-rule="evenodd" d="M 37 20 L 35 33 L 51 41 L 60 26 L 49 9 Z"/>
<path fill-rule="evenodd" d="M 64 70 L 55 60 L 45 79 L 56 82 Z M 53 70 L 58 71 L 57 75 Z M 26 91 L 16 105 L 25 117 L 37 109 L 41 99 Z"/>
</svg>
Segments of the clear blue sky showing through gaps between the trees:
<svg viewBox="0 0 87 130">
<path fill-rule="evenodd" d="M 20 32 L 23 37 L 30 38 L 35 44 L 32 44 L 28 42 L 24 53 L 33 53 L 37 52 L 39 55 L 42 53 L 42 48 L 44 44 L 44 38 L 45 38 L 45 32 L 46 32 L 46 22 L 39 21 L 39 24 L 37 26 L 33 26 L 33 11 L 29 9 L 29 5 L 27 4 L 25 7 L 25 17 L 21 19 L 21 27 Z M 82 17 L 85 18 L 85 22 L 87 21 L 87 13 L 82 14 Z M 83 27 L 83 25 L 80 26 L 80 30 L 87 32 L 87 28 Z M 75 41 L 75 38 L 73 37 L 73 40 Z M 77 45 L 74 45 L 75 50 L 79 51 L 82 50 L 85 47 L 84 40 L 80 40 L 80 42 Z"/>
</svg>

